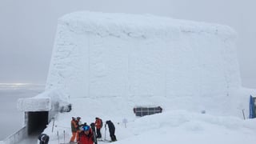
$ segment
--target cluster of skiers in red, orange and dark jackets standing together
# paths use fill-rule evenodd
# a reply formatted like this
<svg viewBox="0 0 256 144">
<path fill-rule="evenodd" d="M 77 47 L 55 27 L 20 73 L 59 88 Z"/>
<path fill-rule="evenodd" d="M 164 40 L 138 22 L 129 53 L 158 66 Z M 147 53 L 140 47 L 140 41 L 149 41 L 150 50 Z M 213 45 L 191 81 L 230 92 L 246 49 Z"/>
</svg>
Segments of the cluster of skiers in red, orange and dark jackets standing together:
<svg viewBox="0 0 256 144">
<path fill-rule="evenodd" d="M 106 121 L 106 125 L 108 125 L 111 141 L 117 141 L 117 138 L 114 135 L 115 127 L 114 123 Z M 71 131 L 72 137 L 70 138 L 70 143 L 78 143 L 78 144 L 94 144 L 97 142 L 97 138 L 102 138 L 101 129 L 103 126 L 103 122 L 101 118 L 95 118 L 95 122 L 91 123 L 90 126 L 85 123 L 82 124 L 81 118 L 72 117 L 71 120 Z M 96 129 L 96 132 L 95 132 Z M 94 133 L 95 132 L 95 133 Z M 76 142 L 75 142 L 76 140 Z"/>
</svg>

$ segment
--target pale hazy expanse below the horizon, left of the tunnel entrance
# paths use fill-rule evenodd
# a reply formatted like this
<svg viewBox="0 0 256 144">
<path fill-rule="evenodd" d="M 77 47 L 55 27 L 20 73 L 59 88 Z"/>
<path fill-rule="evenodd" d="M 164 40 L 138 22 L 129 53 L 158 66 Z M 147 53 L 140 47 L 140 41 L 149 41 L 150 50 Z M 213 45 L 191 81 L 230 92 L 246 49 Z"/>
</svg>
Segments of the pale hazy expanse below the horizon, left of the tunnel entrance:
<svg viewBox="0 0 256 144">
<path fill-rule="evenodd" d="M 25 114 L 18 111 L 16 108 L 18 98 L 34 97 L 42 93 L 42 87 L 30 89 L 30 87 L 23 87 L 18 89 L 0 88 L 0 141 L 10 134 L 20 130 L 25 124 Z"/>
</svg>

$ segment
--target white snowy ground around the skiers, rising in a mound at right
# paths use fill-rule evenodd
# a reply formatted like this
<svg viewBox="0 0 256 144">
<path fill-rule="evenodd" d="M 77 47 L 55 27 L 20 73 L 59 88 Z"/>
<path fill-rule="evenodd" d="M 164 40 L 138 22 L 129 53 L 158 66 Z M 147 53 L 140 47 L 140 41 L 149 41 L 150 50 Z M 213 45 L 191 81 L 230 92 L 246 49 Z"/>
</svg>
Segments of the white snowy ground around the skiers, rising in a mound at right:
<svg viewBox="0 0 256 144">
<path fill-rule="evenodd" d="M 256 119 L 236 117 L 220 117 L 201 112 L 186 110 L 163 110 L 162 114 L 154 114 L 142 118 L 135 117 L 132 102 L 122 103 L 122 98 L 73 98 L 75 103 L 70 113 L 59 114 L 54 123 L 51 122 L 44 133 L 50 135 L 50 143 L 70 140 L 70 119 L 72 116 L 82 117 L 82 122 L 94 122 L 95 117 L 103 122 L 111 120 L 116 126 L 116 136 L 120 144 L 130 143 L 197 143 L 197 144 L 253 144 L 256 142 Z M 122 107 L 114 110 L 114 107 Z M 109 107 L 106 108 L 106 107 Z M 131 108 L 131 107 L 130 107 Z M 128 120 L 125 127 L 123 118 Z M 57 136 L 58 134 L 58 136 Z M 105 137 L 104 126 L 102 137 Z M 108 130 L 106 139 L 110 140 Z M 103 142 L 99 142 L 103 143 Z"/>
</svg>

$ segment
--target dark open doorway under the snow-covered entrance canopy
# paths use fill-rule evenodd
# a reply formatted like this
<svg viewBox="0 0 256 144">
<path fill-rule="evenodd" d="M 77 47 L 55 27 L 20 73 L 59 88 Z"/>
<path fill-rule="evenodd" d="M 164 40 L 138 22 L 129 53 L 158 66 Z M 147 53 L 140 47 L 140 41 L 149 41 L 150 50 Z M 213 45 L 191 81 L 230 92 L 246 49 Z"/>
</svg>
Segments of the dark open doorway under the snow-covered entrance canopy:
<svg viewBox="0 0 256 144">
<path fill-rule="evenodd" d="M 40 134 L 48 124 L 48 111 L 28 112 L 28 134 Z"/>
</svg>

